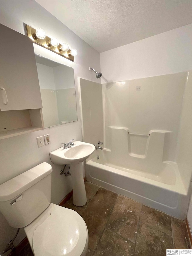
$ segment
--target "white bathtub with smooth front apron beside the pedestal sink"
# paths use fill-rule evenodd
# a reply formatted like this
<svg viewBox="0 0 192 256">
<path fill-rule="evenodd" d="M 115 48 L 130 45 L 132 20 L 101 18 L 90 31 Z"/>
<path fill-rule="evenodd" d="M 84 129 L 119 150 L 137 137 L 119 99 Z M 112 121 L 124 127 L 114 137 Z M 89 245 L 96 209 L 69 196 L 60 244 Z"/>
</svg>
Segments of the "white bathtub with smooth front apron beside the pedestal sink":
<svg viewBox="0 0 192 256">
<path fill-rule="evenodd" d="M 99 156 L 99 159 L 97 159 Z M 164 161 L 154 172 L 114 161 L 110 150 L 95 150 L 85 163 L 86 179 L 176 218 L 185 219 L 189 196 L 178 166 Z"/>
</svg>

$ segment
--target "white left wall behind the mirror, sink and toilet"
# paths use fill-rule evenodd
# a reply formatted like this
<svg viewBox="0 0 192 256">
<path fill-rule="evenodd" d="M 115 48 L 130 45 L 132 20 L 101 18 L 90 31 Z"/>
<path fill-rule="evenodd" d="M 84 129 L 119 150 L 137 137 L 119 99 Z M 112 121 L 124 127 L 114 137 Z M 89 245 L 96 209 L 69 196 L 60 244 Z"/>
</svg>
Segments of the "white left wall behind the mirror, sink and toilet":
<svg viewBox="0 0 192 256">
<path fill-rule="evenodd" d="M 78 55 L 75 57 L 75 62 L 73 63 L 58 54 L 52 53 L 34 44 L 36 54 L 41 54 L 41 56 L 45 58 L 74 68 L 78 121 L 50 129 L 47 128 L 44 131 L 4 139 L 1 140 L 0 143 L 0 182 L 3 183 L 37 164 L 46 161 L 50 163 L 53 168 L 52 202 L 59 203 L 72 189 L 72 186 L 70 177 L 64 177 L 64 175 L 61 176 L 59 174 L 62 166 L 56 166 L 50 162 L 49 152 L 59 148 L 61 146 L 60 143 L 66 143 L 71 139 L 82 140 L 77 78 L 82 77 L 98 82 L 95 75 L 89 71 L 89 67 L 93 66 L 96 70 L 100 70 L 100 55 L 33 0 L 1 0 L 0 11 L 0 23 L 3 25 L 22 34 L 25 34 L 23 23 L 34 28 L 41 27 L 46 31 L 48 36 L 57 37 L 59 41 L 66 42 L 71 48 L 75 48 L 78 52 Z M 50 133 L 51 144 L 38 148 L 36 137 L 47 133 Z M 0 230 L 1 254 L 5 246 L 16 233 L 16 229 L 11 228 L 4 217 L 0 215 Z M 25 234 L 23 230 L 19 231 L 15 245 L 24 237 Z M 7 254 L 4 255 L 6 256 Z"/>
</svg>

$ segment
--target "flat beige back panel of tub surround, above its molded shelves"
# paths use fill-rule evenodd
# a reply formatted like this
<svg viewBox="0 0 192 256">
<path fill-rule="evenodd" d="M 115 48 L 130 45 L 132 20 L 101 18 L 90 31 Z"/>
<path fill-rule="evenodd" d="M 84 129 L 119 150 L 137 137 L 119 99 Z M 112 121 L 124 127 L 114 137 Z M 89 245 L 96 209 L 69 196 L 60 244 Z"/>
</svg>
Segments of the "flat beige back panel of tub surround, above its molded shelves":
<svg viewBox="0 0 192 256">
<path fill-rule="evenodd" d="M 104 84 L 106 129 L 125 127 L 136 134 L 149 134 L 154 129 L 171 131 L 165 137 L 163 161 L 174 161 L 186 78 L 187 72 L 181 72 Z M 110 144 L 113 138 L 108 135 L 106 132 L 105 140 Z"/>
</svg>

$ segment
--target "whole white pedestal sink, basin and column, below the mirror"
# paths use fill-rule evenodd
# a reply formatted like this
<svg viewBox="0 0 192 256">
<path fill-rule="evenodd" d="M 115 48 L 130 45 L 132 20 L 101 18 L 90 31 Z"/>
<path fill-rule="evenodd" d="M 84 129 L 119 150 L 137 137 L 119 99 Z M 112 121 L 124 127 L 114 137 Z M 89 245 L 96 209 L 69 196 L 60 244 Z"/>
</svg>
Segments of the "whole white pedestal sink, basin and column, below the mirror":
<svg viewBox="0 0 192 256">
<path fill-rule="evenodd" d="M 73 185 L 73 204 L 83 206 L 87 202 L 81 163 L 95 150 L 95 146 L 82 141 L 74 141 L 74 146 L 56 149 L 49 153 L 53 164 L 69 164 Z"/>
</svg>

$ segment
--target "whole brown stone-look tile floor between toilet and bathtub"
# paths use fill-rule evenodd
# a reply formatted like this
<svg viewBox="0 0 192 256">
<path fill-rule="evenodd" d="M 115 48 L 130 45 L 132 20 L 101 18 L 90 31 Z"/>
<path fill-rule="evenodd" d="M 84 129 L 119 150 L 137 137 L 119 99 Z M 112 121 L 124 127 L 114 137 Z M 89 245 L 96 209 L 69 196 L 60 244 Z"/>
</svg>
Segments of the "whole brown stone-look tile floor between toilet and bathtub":
<svg viewBox="0 0 192 256">
<path fill-rule="evenodd" d="M 85 220 L 86 256 L 165 256 L 166 249 L 190 248 L 185 222 L 130 198 L 85 182 L 87 203 L 63 205 Z M 29 244 L 18 256 L 33 256 Z"/>
</svg>

